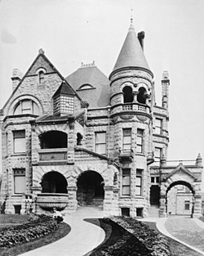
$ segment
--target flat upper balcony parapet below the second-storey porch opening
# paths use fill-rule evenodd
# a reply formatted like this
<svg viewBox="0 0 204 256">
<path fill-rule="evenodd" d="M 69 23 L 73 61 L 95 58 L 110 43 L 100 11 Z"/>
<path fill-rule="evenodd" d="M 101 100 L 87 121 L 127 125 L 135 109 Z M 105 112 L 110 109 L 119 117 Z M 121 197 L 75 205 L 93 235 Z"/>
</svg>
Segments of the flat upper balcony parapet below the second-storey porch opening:
<svg viewBox="0 0 204 256">
<path fill-rule="evenodd" d="M 38 150 L 40 162 L 66 161 L 67 148 L 41 149 Z"/>
</svg>

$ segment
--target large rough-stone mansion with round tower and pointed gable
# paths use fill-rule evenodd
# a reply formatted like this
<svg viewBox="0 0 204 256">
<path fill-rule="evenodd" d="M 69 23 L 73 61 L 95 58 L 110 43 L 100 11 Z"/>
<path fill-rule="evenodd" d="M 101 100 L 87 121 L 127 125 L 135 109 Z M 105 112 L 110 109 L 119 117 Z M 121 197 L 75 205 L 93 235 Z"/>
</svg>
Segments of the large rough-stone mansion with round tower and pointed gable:
<svg viewBox="0 0 204 256">
<path fill-rule="evenodd" d="M 163 217 L 176 214 L 171 188 L 186 187 L 179 213 L 201 216 L 202 158 L 168 165 L 170 80 L 164 71 L 157 106 L 144 32 L 130 26 L 109 78 L 95 63 L 64 78 L 40 49 L 26 74 L 14 70 L 11 79 L 0 112 L 2 213 L 91 206 Z"/>
</svg>

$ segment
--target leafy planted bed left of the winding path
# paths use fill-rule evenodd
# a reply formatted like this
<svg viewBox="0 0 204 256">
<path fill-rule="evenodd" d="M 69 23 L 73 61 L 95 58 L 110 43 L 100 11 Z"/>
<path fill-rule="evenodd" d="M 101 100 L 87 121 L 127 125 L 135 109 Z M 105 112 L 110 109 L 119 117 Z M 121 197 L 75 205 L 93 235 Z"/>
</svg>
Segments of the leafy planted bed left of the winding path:
<svg viewBox="0 0 204 256">
<path fill-rule="evenodd" d="M 31 219 L 31 222 L 15 227 L 4 227 L 0 230 L 0 247 L 11 247 L 45 236 L 54 231 L 58 224 L 53 218 L 40 215 Z"/>
</svg>

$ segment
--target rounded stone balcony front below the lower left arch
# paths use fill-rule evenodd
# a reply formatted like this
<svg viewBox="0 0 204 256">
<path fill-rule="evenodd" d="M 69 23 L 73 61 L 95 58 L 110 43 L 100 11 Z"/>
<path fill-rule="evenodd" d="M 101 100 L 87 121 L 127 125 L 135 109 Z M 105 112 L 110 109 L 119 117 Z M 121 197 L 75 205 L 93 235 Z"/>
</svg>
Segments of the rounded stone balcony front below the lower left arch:
<svg viewBox="0 0 204 256">
<path fill-rule="evenodd" d="M 45 210 L 52 210 L 53 208 L 62 210 L 68 204 L 68 194 L 42 193 L 38 194 L 36 202 L 40 208 Z"/>
</svg>

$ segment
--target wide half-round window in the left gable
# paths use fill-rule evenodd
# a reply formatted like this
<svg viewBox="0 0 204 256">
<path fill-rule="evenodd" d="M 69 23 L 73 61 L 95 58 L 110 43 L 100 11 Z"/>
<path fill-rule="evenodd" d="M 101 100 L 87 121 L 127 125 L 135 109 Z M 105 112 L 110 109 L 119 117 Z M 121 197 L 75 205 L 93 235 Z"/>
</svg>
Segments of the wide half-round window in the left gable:
<svg viewBox="0 0 204 256">
<path fill-rule="evenodd" d="M 19 101 L 14 109 L 14 115 L 32 114 L 39 115 L 38 105 L 32 100 Z"/>
</svg>

